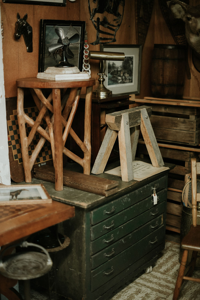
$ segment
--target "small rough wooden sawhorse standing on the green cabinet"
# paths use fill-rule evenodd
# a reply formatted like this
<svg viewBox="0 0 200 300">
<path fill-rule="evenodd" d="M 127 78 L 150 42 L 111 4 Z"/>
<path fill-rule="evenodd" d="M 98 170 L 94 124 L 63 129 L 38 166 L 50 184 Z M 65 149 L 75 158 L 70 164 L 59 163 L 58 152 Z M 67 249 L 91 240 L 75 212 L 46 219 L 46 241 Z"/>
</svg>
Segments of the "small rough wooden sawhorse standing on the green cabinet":
<svg viewBox="0 0 200 300">
<path fill-rule="evenodd" d="M 135 160 L 140 129 L 152 165 L 155 167 L 164 165 L 161 151 L 149 119 L 151 111 L 151 107 L 143 105 L 106 114 L 108 128 L 92 168 L 93 174 L 103 173 L 118 135 L 122 180 L 132 180 L 132 162 Z"/>
</svg>

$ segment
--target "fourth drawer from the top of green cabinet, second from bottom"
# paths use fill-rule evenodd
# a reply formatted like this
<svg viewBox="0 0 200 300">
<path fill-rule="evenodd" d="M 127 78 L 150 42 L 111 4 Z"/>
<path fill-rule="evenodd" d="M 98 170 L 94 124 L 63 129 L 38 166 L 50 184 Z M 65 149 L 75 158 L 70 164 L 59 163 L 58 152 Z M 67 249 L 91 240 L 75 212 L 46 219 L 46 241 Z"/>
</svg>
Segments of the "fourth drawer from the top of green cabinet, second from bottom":
<svg viewBox="0 0 200 300">
<path fill-rule="evenodd" d="M 116 256 L 126 248 L 130 247 L 135 242 L 139 241 L 141 238 L 145 237 L 149 233 L 158 229 L 163 224 L 163 215 L 159 215 L 157 218 L 154 218 L 150 222 L 141 226 L 135 231 L 127 234 L 125 237 L 119 239 L 112 245 L 106 247 L 100 252 L 92 256 L 91 267 L 92 269 L 98 267 L 102 263 L 106 262 L 110 258 Z"/>
</svg>

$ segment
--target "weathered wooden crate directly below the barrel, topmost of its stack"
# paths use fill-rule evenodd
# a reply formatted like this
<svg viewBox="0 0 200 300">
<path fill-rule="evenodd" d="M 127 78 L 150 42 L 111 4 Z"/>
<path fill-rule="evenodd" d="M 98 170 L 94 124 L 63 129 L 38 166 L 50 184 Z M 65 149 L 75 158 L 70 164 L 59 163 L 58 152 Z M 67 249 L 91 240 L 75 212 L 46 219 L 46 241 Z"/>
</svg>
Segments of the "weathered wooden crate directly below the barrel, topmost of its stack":
<svg viewBox="0 0 200 300">
<path fill-rule="evenodd" d="M 200 144 L 200 108 L 151 104 L 151 123 L 158 141 Z"/>
</svg>

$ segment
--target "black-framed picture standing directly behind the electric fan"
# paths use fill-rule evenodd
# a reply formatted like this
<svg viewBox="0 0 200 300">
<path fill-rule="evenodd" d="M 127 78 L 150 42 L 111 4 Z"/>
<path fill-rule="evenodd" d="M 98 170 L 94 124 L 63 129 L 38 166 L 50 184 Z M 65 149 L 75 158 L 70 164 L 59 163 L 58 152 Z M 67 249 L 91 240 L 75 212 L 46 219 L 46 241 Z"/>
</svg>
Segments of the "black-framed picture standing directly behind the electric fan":
<svg viewBox="0 0 200 300">
<path fill-rule="evenodd" d="M 55 26 L 59 26 L 67 34 L 68 30 L 72 26 L 80 34 L 80 39 L 77 43 L 73 44 L 73 52 L 75 53 L 73 59 L 69 59 L 69 62 L 74 64 L 82 70 L 83 64 L 83 50 L 84 50 L 84 32 L 85 21 L 66 21 L 66 20 L 40 20 L 40 36 L 39 36 L 39 59 L 38 59 L 38 72 L 44 72 L 49 66 L 55 66 L 61 57 L 55 57 L 52 53 L 49 53 L 47 45 L 56 43 L 58 35 L 55 32 Z M 72 50 L 72 48 L 70 48 Z"/>
</svg>

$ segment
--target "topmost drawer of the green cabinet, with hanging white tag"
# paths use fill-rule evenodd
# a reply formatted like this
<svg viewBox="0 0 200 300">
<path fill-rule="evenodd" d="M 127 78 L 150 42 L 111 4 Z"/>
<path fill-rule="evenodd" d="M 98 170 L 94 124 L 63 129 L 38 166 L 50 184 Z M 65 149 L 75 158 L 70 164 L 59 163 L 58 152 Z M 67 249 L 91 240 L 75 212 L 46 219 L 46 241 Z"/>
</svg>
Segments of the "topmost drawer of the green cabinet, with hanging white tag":
<svg viewBox="0 0 200 300">
<path fill-rule="evenodd" d="M 112 202 L 109 202 L 91 212 L 91 224 L 97 224 L 111 215 L 122 211 L 123 209 L 139 202 L 153 193 L 154 187 L 156 192 L 167 186 L 167 176 L 163 176 L 149 184 L 144 185 Z"/>
</svg>

